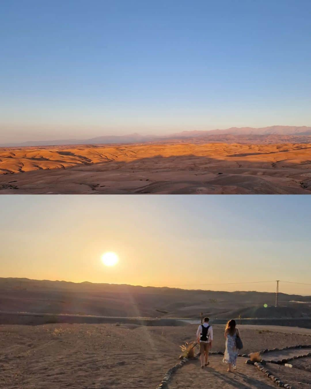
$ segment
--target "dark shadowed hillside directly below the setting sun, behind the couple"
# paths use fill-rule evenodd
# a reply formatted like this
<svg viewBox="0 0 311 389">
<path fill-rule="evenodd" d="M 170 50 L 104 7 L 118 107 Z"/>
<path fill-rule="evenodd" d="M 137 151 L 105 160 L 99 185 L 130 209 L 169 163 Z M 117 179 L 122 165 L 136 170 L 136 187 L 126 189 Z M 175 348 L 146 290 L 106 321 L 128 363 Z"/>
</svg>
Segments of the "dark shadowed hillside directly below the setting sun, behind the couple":
<svg viewBox="0 0 311 389">
<path fill-rule="evenodd" d="M 311 317 L 311 296 L 0 279 L 0 311 L 120 317 Z M 299 302 L 300 301 L 300 302 Z M 304 303 L 301 303 L 304 302 Z M 264 308 L 264 304 L 268 307 Z M 232 308 L 233 307 L 233 308 Z"/>
</svg>

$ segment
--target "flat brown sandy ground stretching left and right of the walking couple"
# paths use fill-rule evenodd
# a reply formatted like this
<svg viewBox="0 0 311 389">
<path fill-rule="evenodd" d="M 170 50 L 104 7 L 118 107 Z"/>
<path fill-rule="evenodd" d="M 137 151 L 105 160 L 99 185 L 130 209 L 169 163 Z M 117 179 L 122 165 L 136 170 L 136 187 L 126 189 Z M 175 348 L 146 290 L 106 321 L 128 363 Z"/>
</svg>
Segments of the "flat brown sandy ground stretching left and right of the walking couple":
<svg viewBox="0 0 311 389">
<path fill-rule="evenodd" d="M 224 326 L 214 325 L 213 328 L 213 350 L 224 350 Z M 179 345 L 193 340 L 196 329 L 196 325 L 183 327 L 145 327 L 129 324 L 2 325 L 0 387 L 155 388 L 168 368 L 178 361 Z M 240 332 L 245 344 L 243 349 L 245 353 L 268 347 L 282 348 L 310 343 L 310 337 L 306 335 L 243 328 Z M 213 357 L 218 361 L 217 356 Z M 273 384 L 262 373 L 253 366 L 244 365 L 245 360 L 238 359 L 239 366 L 241 365 L 240 375 L 234 378 L 236 383 L 233 386 L 228 386 L 227 373 L 221 358 L 217 363 L 211 364 L 210 374 L 206 378 L 209 380 L 208 386 L 272 387 Z M 202 382 L 200 374 L 207 375 L 208 372 L 196 369 L 196 364 L 197 362 L 191 363 L 187 368 L 187 364 L 183 366 L 176 373 L 177 382 L 172 380 L 172 385 L 180 385 L 180 382 L 183 382 L 183 387 L 203 387 L 199 386 Z M 184 369 L 185 377 L 179 376 Z M 297 374 L 305 373 L 296 370 Z M 195 385 L 192 383 L 194 386 L 190 382 L 190 377 L 197 377 Z M 262 386 L 258 386 L 259 383 Z"/>
</svg>

